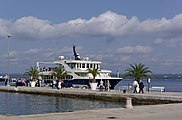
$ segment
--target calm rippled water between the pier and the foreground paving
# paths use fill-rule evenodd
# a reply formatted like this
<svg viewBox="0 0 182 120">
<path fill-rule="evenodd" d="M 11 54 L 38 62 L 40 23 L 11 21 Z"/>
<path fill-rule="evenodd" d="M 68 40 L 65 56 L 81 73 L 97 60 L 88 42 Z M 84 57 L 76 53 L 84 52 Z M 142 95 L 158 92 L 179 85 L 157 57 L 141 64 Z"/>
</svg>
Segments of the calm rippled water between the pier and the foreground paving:
<svg viewBox="0 0 182 120">
<path fill-rule="evenodd" d="M 114 102 L 8 92 L 0 92 L 0 96 L 0 114 L 27 115 L 124 106 Z"/>
</svg>

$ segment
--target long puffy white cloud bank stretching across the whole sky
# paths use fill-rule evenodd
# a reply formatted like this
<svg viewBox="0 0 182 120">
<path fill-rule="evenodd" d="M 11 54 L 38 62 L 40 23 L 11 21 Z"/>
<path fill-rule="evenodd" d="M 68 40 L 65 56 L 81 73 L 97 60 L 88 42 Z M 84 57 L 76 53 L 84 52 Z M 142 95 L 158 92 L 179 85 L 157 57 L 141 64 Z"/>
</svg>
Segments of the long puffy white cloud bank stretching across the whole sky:
<svg viewBox="0 0 182 120">
<path fill-rule="evenodd" d="M 0 19 L 0 36 L 11 33 L 22 39 L 55 39 L 73 36 L 127 36 L 164 39 L 181 37 L 182 14 L 172 19 L 146 19 L 140 21 L 136 16 L 127 18 L 107 11 L 90 19 L 75 19 L 68 22 L 52 24 L 32 16 L 22 17 L 16 21 Z"/>
</svg>

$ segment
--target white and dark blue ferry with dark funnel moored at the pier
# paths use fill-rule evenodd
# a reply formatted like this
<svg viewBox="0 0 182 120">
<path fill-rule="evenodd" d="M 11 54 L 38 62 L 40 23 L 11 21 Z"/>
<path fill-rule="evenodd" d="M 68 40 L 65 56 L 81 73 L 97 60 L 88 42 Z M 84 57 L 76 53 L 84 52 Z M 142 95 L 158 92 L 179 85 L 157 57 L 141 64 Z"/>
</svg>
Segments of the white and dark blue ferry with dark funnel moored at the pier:
<svg viewBox="0 0 182 120">
<path fill-rule="evenodd" d="M 110 89 L 114 89 L 115 85 L 119 83 L 122 78 L 111 77 L 111 70 L 101 69 L 100 61 L 90 60 L 88 57 L 81 59 L 80 55 L 76 53 L 76 46 L 73 45 L 74 59 L 65 59 L 64 56 L 59 56 L 57 60 L 53 62 L 37 62 L 37 68 L 40 70 L 42 80 L 56 80 L 51 75 L 55 67 L 62 66 L 67 72 L 67 76 L 64 80 L 64 87 L 73 87 L 73 85 L 89 85 L 90 80 L 93 78 L 91 74 L 88 74 L 88 69 L 98 69 L 100 74 L 96 76 L 98 85 L 102 80 L 104 84 L 110 83 Z M 52 65 L 52 66 L 44 66 Z M 53 67 L 55 65 L 55 67 Z"/>
</svg>

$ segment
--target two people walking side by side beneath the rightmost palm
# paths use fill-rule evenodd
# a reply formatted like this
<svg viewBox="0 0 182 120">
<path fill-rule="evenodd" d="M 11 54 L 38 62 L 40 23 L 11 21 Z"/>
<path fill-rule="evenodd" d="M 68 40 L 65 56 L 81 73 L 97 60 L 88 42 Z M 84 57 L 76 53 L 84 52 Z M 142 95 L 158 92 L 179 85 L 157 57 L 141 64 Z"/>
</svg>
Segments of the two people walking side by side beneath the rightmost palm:
<svg viewBox="0 0 182 120">
<path fill-rule="evenodd" d="M 141 93 L 141 92 L 144 93 L 143 92 L 144 84 L 142 80 L 140 80 L 140 82 L 138 82 L 137 80 L 134 80 L 133 88 L 134 88 L 133 93 Z"/>
</svg>

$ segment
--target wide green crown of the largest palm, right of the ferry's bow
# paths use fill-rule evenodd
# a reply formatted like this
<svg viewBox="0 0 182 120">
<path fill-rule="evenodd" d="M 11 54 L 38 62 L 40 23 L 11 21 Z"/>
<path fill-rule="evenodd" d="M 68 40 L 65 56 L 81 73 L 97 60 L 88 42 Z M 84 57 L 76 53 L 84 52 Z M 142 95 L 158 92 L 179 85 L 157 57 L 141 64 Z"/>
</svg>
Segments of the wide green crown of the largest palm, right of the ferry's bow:
<svg viewBox="0 0 182 120">
<path fill-rule="evenodd" d="M 130 67 L 128 67 L 125 71 L 126 73 L 123 77 L 133 77 L 138 81 L 138 83 L 142 78 L 150 77 L 149 74 L 152 73 L 149 70 L 149 67 L 145 67 L 145 65 L 142 63 L 135 65 L 130 64 Z"/>
</svg>

